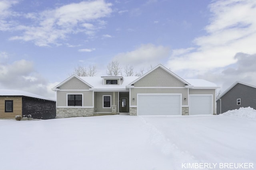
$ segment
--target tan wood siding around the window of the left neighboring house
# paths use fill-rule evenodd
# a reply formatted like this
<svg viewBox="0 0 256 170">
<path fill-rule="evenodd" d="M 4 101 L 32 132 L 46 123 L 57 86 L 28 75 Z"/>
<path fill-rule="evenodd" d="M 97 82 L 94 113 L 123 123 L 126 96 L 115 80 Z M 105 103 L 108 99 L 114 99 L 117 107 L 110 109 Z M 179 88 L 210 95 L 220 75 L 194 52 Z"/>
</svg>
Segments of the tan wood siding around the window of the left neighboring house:
<svg viewBox="0 0 256 170">
<path fill-rule="evenodd" d="M 13 112 L 5 112 L 5 100 L 13 100 Z M 14 119 L 22 115 L 22 97 L 0 97 L 0 118 Z"/>
</svg>

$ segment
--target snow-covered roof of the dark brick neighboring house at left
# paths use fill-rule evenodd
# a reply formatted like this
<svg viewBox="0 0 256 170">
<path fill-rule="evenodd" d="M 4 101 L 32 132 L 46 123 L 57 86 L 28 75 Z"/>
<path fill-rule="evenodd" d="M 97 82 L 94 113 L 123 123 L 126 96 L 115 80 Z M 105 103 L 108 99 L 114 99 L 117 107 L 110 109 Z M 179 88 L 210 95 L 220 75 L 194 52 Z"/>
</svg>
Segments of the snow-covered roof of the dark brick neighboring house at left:
<svg viewBox="0 0 256 170">
<path fill-rule="evenodd" d="M 26 96 L 26 97 L 30 97 L 30 98 L 55 101 L 50 98 L 46 98 L 46 97 L 43 97 L 43 96 L 40 96 L 37 94 L 33 94 L 30 92 L 25 92 L 25 91 L 21 91 L 21 90 L 0 89 L 0 96 Z"/>
</svg>

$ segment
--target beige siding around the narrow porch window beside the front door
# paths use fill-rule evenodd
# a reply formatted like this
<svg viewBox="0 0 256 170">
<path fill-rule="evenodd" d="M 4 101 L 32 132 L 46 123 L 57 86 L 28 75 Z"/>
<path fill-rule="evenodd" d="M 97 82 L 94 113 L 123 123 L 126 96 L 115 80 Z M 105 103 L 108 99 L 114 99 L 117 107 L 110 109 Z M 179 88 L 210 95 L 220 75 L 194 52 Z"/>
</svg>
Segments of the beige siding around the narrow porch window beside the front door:
<svg viewBox="0 0 256 170">
<path fill-rule="evenodd" d="M 114 103 L 113 92 L 95 92 L 95 112 L 112 112 L 112 108 L 103 108 L 103 95 L 111 96 L 111 105 Z M 118 113 L 118 92 L 115 92 L 116 113 Z"/>
</svg>

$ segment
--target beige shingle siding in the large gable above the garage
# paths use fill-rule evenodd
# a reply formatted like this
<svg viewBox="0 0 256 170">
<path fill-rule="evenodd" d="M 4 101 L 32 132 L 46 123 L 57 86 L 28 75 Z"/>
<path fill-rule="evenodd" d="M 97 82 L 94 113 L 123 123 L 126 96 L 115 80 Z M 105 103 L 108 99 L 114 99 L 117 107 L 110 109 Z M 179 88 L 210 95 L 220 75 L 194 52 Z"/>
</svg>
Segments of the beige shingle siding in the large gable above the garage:
<svg viewBox="0 0 256 170">
<path fill-rule="evenodd" d="M 184 83 L 162 68 L 150 72 L 134 83 L 134 87 L 184 87 Z"/>
</svg>

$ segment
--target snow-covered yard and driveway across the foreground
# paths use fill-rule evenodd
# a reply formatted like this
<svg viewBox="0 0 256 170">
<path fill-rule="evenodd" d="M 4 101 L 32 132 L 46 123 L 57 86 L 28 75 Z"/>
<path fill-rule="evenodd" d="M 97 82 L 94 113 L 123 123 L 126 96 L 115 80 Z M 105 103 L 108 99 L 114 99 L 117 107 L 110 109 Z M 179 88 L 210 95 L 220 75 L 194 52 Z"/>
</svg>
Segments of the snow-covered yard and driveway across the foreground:
<svg viewBox="0 0 256 170">
<path fill-rule="evenodd" d="M 256 168 L 256 112 L 237 112 L 0 120 L 0 170 Z"/>
</svg>

